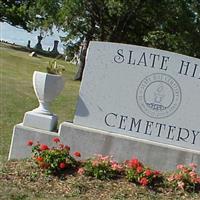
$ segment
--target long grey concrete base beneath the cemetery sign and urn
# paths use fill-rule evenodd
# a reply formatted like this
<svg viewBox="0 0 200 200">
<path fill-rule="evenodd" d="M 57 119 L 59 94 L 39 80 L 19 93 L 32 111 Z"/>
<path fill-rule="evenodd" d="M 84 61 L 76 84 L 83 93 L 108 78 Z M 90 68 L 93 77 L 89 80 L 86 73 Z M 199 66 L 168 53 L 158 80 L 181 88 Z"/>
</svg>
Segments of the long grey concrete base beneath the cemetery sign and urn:
<svg viewBox="0 0 200 200">
<path fill-rule="evenodd" d="M 59 133 L 16 125 L 9 159 L 30 157 L 31 148 L 26 146 L 28 140 L 52 146 L 53 137 L 60 137 L 64 144 L 71 147 L 71 152 L 80 151 L 82 159 L 103 154 L 111 155 L 117 161 L 124 161 L 135 156 L 145 165 L 161 171 L 174 170 L 177 164 L 194 162 L 200 172 L 200 151 L 86 128 L 69 122 L 60 125 Z"/>
</svg>

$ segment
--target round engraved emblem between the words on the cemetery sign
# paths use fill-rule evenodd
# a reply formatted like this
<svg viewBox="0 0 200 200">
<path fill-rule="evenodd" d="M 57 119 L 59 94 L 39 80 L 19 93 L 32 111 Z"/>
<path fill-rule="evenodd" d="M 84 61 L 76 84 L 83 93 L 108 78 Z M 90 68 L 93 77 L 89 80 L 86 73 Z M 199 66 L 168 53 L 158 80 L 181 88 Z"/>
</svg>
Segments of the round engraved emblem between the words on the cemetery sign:
<svg viewBox="0 0 200 200">
<path fill-rule="evenodd" d="M 151 74 L 140 83 L 137 104 L 146 115 L 165 118 L 172 115 L 181 103 L 181 89 L 174 78 L 167 74 Z"/>
</svg>

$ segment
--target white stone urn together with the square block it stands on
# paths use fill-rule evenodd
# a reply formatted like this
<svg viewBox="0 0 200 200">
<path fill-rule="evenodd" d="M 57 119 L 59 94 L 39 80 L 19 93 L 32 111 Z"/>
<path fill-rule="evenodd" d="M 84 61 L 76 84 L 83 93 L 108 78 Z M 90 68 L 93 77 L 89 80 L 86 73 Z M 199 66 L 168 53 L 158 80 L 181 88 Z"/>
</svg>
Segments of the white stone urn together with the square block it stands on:
<svg viewBox="0 0 200 200">
<path fill-rule="evenodd" d="M 23 125 L 47 131 L 56 130 L 58 118 L 49 110 L 49 103 L 59 95 L 64 87 L 62 75 L 35 71 L 33 87 L 39 106 L 25 113 Z"/>
</svg>

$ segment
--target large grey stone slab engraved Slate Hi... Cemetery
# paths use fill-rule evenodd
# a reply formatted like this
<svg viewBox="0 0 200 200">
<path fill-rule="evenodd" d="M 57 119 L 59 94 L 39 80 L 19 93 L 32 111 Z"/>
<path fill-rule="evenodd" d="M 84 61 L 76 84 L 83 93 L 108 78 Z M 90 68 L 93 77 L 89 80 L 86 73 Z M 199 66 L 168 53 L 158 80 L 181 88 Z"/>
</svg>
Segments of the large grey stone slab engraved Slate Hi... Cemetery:
<svg viewBox="0 0 200 200">
<path fill-rule="evenodd" d="M 91 42 L 74 124 L 200 150 L 200 60 Z"/>
</svg>

